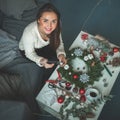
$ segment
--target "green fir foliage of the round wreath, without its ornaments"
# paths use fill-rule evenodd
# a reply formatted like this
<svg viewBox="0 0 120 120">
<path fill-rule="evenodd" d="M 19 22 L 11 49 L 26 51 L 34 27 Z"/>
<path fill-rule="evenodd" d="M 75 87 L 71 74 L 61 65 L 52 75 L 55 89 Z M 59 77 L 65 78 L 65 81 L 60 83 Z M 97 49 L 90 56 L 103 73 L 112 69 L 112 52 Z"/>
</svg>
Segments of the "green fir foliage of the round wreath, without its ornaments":
<svg viewBox="0 0 120 120">
<path fill-rule="evenodd" d="M 88 85 L 93 85 L 94 81 L 99 80 L 99 78 L 102 76 L 101 72 L 103 70 L 103 66 L 101 65 L 99 59 L 96 58 L 94 55 L 93 55 L 94 56 L 93 59 L 90 59 L 88 61 L 84 61 L 84 56 L 92 54 L 92 53 L 87 51 L 87 50 L 84 50 L 83 55 L 77 56 L 76 54 L 74 54 L 74 51 L 76 49 L 79 50 L 80 48 L 74 48 L 74 49 L 67 52 L 67 58 L 68 58 L 67 65 L 69 66 L 69 69 L 65 69 L 64 67 L 60 67 L 60 68 L 58 68 L 58 71 L 61 73 L 61 76 L 65 80 L 71 82 L 72 84 L 75 84 L 76 86 L 78 86 L 80 88 L 84 88 L 84 87 L 87 87 Z M 80 81 L 80 75 L 83 74 L 82 71 L 76 72 L 76 71 L 73 70 L 73 66 L 72 66 L 71 61 L 73 59 L 75 59 L 76 57 L 83 60 L 88 67 L 88 71 L 86 73 L 89 76 L 89 81 L 88 82 L 83 83 L 83 82 Z M 92 65 L 92 64 L 94 64 L 94 65 Z M 73 78 L 74 75 L 77 75 L 78 78 L 74 79 Z"/>
</svg>

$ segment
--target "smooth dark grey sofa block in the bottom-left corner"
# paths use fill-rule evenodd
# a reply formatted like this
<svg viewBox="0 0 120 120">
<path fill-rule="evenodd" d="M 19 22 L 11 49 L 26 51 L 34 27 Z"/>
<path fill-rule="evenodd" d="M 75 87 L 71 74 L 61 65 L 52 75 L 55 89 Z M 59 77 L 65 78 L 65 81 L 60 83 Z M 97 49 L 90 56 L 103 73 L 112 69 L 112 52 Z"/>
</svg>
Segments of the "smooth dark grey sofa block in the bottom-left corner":
<svg viewBox="0 0 120 120">
<path fill-rule="evenodd" d="M 32 112 L 24 102 L 0 101 L 1 120 L 32 120 Z"/>
</svg>

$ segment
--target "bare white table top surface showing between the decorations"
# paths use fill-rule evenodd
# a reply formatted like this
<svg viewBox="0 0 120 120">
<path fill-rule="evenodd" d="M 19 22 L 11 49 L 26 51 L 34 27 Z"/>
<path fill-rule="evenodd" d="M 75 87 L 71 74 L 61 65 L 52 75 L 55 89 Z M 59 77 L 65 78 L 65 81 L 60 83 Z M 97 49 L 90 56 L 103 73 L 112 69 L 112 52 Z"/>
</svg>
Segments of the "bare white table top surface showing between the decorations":
<svg viewBox="0 0 120 120">
<path fill-rule="evenodd" d="M 81 39 L 81 34 L 83 34 L 85 32 L 81 31 L 79 33 L 79 35 L 77 36 L 77 38 L 74 40 L 74 42 L 72 43 L 70 49 L 75 48 L 75 47 L 81 47 L 82 49 L 85 49 L 87 46 L 84 43 L 83 44 L 83 40 Z M 88 33 L 87 33 L 88 34 Z M 89 36 L 92 36 L 89 34 Z M 111 44 L 113 45 L 113 44 Z M 120 56 L 120 53 L 116 53 L 115 56 Z M 108 59 L 111 59 L 111 57 L 109 57 Z M 58 66 L 59 67 L 59 66 Z M 109 70 L 112 73 L 112 76 L 110 76 L 108 74 L 108 72 L 104 69 L 103 72 L 103 76 L 100 78 L 99 81 L 95 82 L 93 87 L 96 87 L 101 93 L 102 95 L 109 95 L 111 92 L 111 89 L 115 83 L 115 80 L 117 79 L 117 76 L 120 72 L 120 66 L 119 67 L 113 67 L 112 65 L 108 65 L 107 66 L 109 68 Z M 57 68 L 56 68 L 57 69 Z M 114 73 L 113 73 L 114 71 Z M 50 76 L 50 80 L 56 80 L 58 78 L 58 73 L 55 70 L 52 75 Z M 106 81 L 104 81 L 104 79 Z M 107 83 L 108 86 L 104 87 L 104 84 Z M 44 87 L 42 88 L 42 90 L 40 91 L 40 93 L 38 94 L 38 96 L 36 97 L 37 101 L 40 102 L 41 104 L 43 104 L 43 107 L 45 110 L 47 110 L 48 112 L 50 112 L 51 114 L 57 116 L 59 118 L 59 114 L 55 114 L 56 112 L 59 112 L 61 104 L 59 104 L 56 100 L 56 93 L 53 89 L 50 89 L 48 87 L 48 83 L 46 83 L 44 85 Z M 103 108 L 104 104 L 101 104 L 99 106 L 99 109 L 97 111 L 95 111 L 96 113 L 96 117 L 95 118 L 87 118 L 87 120 L 97 120 L 101 110 Z M 51 111 L 51 108 L 53 111 Z M 71 118 L 72 120 L 73 118 Z M 78 120 L 78 118 L 74 118 L 74 120 Z"/>
</svg>

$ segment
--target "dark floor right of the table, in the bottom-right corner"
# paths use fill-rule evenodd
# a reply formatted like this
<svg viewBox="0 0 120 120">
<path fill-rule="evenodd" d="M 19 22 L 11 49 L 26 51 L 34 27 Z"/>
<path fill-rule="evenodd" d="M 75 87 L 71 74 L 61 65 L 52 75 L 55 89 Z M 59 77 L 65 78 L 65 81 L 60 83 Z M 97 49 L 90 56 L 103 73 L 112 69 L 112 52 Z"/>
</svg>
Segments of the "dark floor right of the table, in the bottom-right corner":
<svg viewBox="0 0 120 120">
<path fill-rule="evenodd" d="M 120 74 L 114 83 L 111 94 L 113 98 L 103 108 L 98 120 L 120 120 Z"/>
</svg>

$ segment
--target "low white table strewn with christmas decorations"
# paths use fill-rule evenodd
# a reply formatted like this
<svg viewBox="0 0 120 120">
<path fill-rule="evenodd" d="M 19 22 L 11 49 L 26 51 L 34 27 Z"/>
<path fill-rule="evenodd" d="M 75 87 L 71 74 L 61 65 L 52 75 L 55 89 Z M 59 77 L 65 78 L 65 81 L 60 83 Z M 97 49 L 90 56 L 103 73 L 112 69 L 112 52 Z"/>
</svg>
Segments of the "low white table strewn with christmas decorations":
<svg viewBox="0 0 120 120">
<path fill-rule="evenodd" d="M 81 37 L 82 35 L 86 35 L 86 34 L 89 37 L 93 37 L 93 35 L 88 34 L 84 31 L 81 31 L 79 33 L 79 35 L 77 36 L 77 38 L 72 43 L 72 45 L 70 47 L 70 50 L 72 48 L 75 48 L 75 47 L 80 47 L 82 49 L 87 49 L 86 36 L 83 36 L 84 38 Z M 112 47 L 115 46 L 111 43 L 110 43 L 110 45 Z M 107 60 L 111 60 L 113 57 L 116 57 L 116 56 L 120 57 L 120 52 L 114 53 L 114 56 L 112 56 L 112 57 L 109 56 L 107 58 Z M 104 64 L 106 64 L 106 63 L 104 63 Z M 59 68 L 59 66 L 52 73 L 49 80 L 57 80 L 58 79 L 58 77 L 59 77 L 59 73 L 57 71 L 58 68 Z M 103 74 L 102 77 L 100 77 L 99 81 L 95 81 L 92 87 L 97 88 L 100 91 L 102 96 L 109 95 L 110 91 L 111 91 L 111 89 L 112 89 L 112 87 L 115 83 L 115 80 L 117 79 L 117 76 L 118 76 L 119 72 L 120 72 L 120 66 L 113 67 L 112 65 L 107 65 L 107 68 L 105 68 L 102 71 L 102 74 Z M 48 87 L 48 85 L 49 85 L 49 83 L 46 82 L 46 84 L 44 85 L 44 87 L 42 88 L 42 90 L 40 91 L 38 96 L 36 97 L 36 100 L 38 101 L 39 105 L 44 110 L 46 110 L 47 112 L 56 116 L 57 118 L 61 119 L 59 111 L 60 111 L 60 108 L 61 108 L 62 104 L 64 104 L 64 102 L 62 104 L 60 104 L 57 101 L 57 97 L 59 96 L 57 94 L 59 94 L 61 91 L 60 90 L 56 91 L 54 88 L 51 89 L 50 87 Z M 102 111 L 103 106 L 104 106 L 104 103 L 100 104 L 97 111 L 94 111 L 95 117 L 94 118 L 87 118 L 87 120 L 97 120 L 101 111 Z M 69 119 L 73 120 L 73 117 L 70 116 Z M 76 118 L 74 118 L 74 120 L 79 120 L 79 119 L 76 117 Z"/>
</svg>

